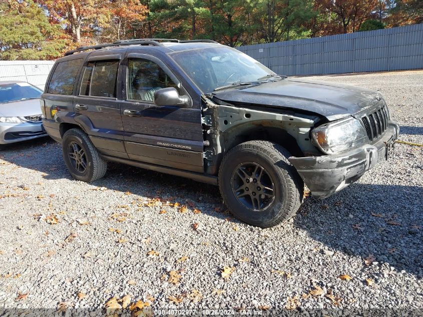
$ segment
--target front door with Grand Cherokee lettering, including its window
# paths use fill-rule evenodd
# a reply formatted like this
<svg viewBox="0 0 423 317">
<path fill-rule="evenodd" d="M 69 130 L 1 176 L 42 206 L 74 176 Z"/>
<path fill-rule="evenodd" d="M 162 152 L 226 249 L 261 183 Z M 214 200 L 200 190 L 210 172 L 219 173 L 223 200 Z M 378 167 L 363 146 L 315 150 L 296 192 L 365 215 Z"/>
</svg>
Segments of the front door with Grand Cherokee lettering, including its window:
<svg viewBox="0 0 423 317">
<path fill-rule="evenodd" d="M 174 87 L 180 95 L 187 95 L 159 59 L 132 53 L 125 62 L 126 98 L 122 98 L 121 115 L 129 158 L 204 172 L 201 110 L 154 104 L 154 92 L 162 88 Z"/>
</svg>

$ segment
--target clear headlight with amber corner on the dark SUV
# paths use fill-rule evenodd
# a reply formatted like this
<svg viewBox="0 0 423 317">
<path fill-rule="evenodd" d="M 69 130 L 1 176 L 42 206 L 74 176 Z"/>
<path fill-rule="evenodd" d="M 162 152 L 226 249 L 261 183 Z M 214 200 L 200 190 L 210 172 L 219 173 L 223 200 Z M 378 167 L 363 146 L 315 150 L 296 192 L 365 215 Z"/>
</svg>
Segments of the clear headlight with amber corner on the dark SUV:
<svg viewBox="0 0 423 317">
<path fill-rule="evenodd" d="M 326 123 L 311 131 L 314 142 L 326 154 L 334 154 L 368 142 L 366 131 L 352 117 Z"/>
</svg>

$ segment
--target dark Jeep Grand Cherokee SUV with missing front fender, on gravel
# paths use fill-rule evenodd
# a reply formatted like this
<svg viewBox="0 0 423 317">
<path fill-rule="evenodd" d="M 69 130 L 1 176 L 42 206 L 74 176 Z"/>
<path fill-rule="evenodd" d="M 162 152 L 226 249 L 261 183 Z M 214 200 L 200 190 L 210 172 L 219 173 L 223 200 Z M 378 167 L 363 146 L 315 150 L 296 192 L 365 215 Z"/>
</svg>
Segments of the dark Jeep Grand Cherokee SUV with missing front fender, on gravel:
<svg viewBox="0 0 423 317">
<path fill-rule="evenodd" d="M 295 214 L 304 184 L 325 198 L 388 159 L 399 134 L 374 91 L 280 76 L 209 40 L 82 47 L 54 65 L 43 125 L 71 175 L 107 162 L 219 185 L 240 220 Z"/>
</svg>

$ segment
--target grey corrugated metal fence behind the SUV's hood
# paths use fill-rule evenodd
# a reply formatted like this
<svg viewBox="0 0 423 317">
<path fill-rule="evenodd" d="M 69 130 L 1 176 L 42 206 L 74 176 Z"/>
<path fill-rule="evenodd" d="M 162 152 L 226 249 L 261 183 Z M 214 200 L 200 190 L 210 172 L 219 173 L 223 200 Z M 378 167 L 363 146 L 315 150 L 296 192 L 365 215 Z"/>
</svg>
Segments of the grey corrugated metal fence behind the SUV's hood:
<svg viewBox="0 0 423 317">
<path fill-rule="evenodd" d="M 419 69 L 423 24 L 237 49 L 281 75 Z"/>
</svg>

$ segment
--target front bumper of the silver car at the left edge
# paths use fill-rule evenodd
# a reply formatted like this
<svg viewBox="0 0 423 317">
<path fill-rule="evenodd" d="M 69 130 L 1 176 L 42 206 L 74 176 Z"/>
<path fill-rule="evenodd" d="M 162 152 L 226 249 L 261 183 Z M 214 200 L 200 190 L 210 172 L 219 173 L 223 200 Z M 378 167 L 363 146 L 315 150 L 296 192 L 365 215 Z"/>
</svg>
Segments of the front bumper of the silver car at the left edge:
<svg viewBox="0 0 423 317">
<path fill-rule="evenodd" d="M 9 144 L 45 137 L 42 123 L 0 123 L 0 144 Z"/>
</svg>

